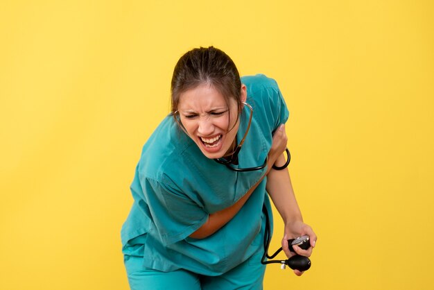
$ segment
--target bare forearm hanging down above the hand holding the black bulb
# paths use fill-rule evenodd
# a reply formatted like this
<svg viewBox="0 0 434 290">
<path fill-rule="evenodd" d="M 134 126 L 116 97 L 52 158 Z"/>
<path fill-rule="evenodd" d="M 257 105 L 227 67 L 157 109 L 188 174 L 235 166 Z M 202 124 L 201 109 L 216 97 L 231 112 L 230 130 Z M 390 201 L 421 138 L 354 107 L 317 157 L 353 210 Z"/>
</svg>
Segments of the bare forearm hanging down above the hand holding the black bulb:
<svg viewBox="0 0 434 290">
<path fill-rule="evenodd" d="M 284 163 L 284 155 L 279 156 L 276 165 L 280 166 Z M 284 223 L 303 221 L 302 213 L 295 199 L 288 169 L 272 169 L 267 176 L 266 189 Z"/>
</svg>

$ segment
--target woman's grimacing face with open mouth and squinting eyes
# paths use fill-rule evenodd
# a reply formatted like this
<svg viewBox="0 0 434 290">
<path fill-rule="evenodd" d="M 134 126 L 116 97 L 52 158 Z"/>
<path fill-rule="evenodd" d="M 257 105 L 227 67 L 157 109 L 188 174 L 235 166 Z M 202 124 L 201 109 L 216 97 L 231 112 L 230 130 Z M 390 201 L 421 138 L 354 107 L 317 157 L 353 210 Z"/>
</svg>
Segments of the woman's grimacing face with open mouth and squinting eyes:
<svg viewBox="0 0 434 290">
<path fill-rule="evenodd" d="M 243 85 L 241 101 L 245 97 Z M 180 95 L 178 111 L 182 125 L 203 155 L 216 159 L 232 153 L 239 126 L 234 99 L 230 99 L 228 110 L 222 94 L 211 85 L 202 84 Z"/>
</svg>

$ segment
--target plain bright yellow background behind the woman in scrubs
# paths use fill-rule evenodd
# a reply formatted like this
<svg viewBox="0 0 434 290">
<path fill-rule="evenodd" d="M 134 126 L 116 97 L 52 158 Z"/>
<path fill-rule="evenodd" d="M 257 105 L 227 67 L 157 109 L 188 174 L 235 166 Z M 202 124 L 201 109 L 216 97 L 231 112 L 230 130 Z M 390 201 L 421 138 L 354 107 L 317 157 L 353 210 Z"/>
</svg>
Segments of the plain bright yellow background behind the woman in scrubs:
<svg viewBox="0 0 434 290">
<path fill-rule="evenodd" d="M 265 289 L 433 289 L 433 31 L 432 1 L 1 1 L 0 289 L 128 289 L 134 167 L 209 45 L 291 112 L 318 246 Z"/>
</svg>

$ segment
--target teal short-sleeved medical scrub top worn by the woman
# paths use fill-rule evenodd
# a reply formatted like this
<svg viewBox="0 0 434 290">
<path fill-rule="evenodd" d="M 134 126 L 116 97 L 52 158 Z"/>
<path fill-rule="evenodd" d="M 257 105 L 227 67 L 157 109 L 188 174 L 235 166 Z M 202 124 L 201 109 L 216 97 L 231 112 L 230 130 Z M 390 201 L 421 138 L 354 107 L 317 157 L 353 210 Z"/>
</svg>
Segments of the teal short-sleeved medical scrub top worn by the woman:
<svg viewBox="0 0 434 290">
<path fill-rule="evenodd" d="M 275 80 L 257 75 L 241 82 L 247 87 L 253 117 L 238 167 L 258 167 L 268 155 L 272 133 L 286 123 L 289 113 Z M 243 108 L 238 141 L 249 116 L 250 110 Z M 265 171 L 236 172 L 208 159 L 169 115 L 144 145 L 137 164 L 130 187 L 134 203 L 121 230 L 123 247 L 140 237 L 144 267 L 159 271 L 184 268 L 202 275 L 229 271 L 263 246 L 259 232 L 264 203 L 271 212 L 266 178 L 223 228 L 205 239 L 189 235 L 209 214 L 236 203 Z"/>
</svg>

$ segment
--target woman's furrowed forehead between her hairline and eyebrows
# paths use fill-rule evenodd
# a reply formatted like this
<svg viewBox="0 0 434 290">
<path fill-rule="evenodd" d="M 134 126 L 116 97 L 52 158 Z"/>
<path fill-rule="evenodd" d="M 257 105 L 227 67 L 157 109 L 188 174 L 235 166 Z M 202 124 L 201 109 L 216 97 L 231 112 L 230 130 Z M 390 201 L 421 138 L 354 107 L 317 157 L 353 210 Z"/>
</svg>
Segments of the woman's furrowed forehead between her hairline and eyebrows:
<svg viewBox="0 0 434 290">
<path fill-rule="evenodd" d="M 232 99 L 228 100 L 232 107 Z M 227 108 L 225 97 L 212 85 L 201 84 L 180 94 L 180 110 L 207 111 Z"/>
</svg>

